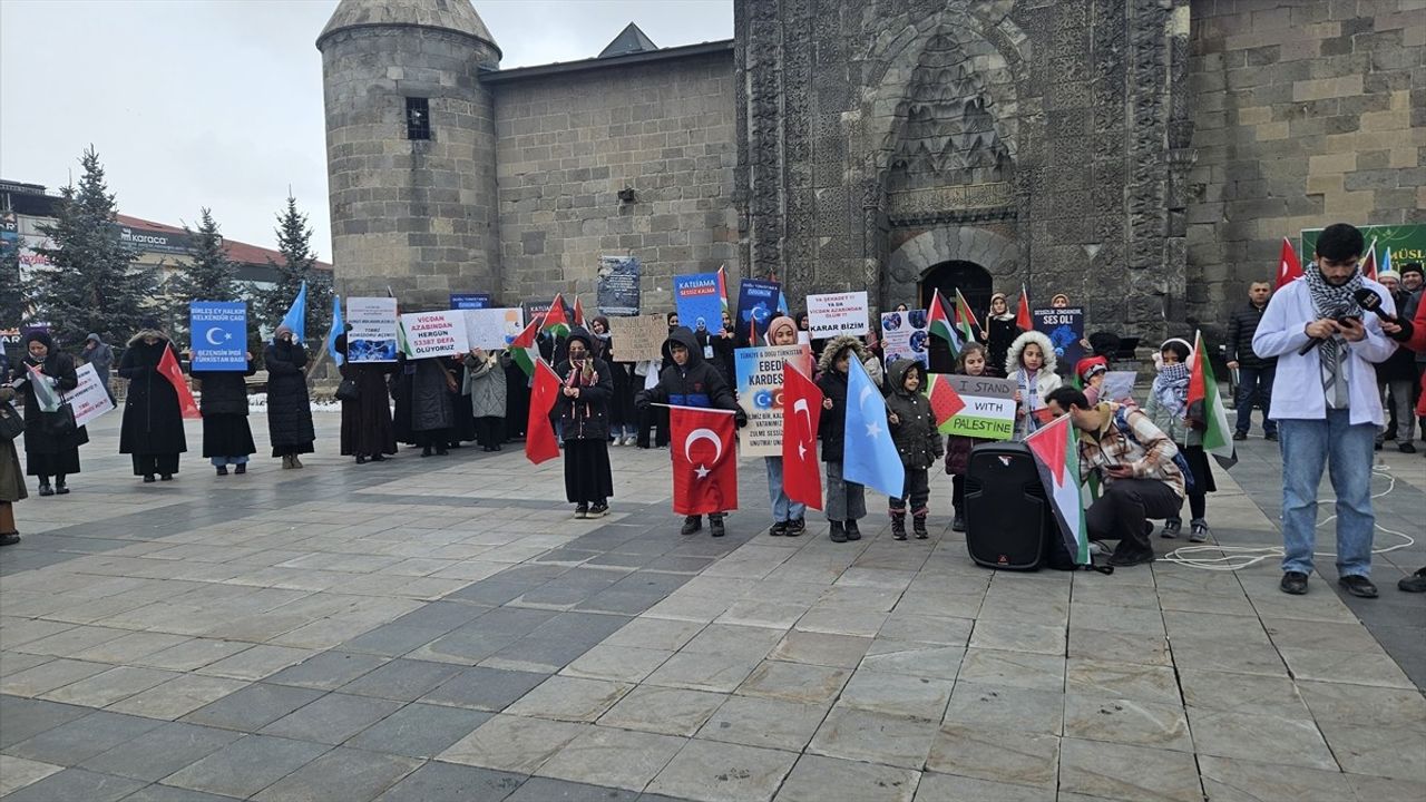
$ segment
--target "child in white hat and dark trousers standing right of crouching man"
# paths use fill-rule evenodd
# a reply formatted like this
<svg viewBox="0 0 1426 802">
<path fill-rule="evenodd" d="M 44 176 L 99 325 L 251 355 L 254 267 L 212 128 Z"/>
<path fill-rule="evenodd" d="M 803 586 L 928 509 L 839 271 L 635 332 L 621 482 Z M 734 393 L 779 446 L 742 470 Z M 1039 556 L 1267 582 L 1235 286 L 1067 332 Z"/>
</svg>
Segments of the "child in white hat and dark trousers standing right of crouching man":
<svg viewBox="0 0 1426 802">
<path fill-rule="evenodd" d="M 1204 420 L 1202 404 L 1188 404 L 1189 384 L 1189 354 L 1192 350 L 1184 340 L 1166 340 L 1159 345 L 1158 375 L 1154 377 L 1154 387 L 1149 390 L 1148 404 L 1144 412 L 1174 441 L 1174 445 L 1188 461 L 1192 481 L 1188 482 L 1188 509 L 1194 518 L 1189 521 L 1188 539 L 1201 544 L 1212 534 L 1208 521 L 1208 494 L 1218 489 L 1214 485 L 1214 471 L 1208 465 L 1208 452 L 1204 451 Z M 1184 519 L 1178 515 L 1164 521 L 1161 537 L 1174 538 L 1184 529 Z"/>
</svg>

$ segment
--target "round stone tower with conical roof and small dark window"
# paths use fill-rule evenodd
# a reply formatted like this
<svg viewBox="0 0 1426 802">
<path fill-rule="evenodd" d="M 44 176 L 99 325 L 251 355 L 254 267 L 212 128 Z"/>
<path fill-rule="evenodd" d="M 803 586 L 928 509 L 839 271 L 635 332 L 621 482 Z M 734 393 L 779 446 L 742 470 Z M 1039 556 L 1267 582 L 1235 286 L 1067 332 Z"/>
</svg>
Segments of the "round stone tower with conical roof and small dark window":
<svg viewBox="0 0 1426 802">
<path fill-rule="evenodd" d="M 501 49 L 471 0 L 341 0 L 322 53 L 338 291 L 405 311 L 499 293 L 495 114 Z"/>
</svg>

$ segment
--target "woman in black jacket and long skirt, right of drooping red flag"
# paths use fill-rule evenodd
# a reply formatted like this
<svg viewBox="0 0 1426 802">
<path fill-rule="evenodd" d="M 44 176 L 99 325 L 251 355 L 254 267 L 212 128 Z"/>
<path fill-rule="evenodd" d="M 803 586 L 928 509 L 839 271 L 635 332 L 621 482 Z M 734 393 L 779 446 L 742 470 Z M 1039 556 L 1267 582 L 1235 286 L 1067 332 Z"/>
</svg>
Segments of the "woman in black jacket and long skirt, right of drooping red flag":
<svg viewBox="0 0 1426 802">
<path fill-rule="evenodd" d="M 565 498 L 575 518 L 602 518 L 615 494 L 609 468 L 609 402 L 615 381 L 609 362 L 595 358 L 595 341 L 575 328 L 565 341 L 568 358 L 555 368 L 560 390 L 550 417 L 565 440 Z"/>
</svg>

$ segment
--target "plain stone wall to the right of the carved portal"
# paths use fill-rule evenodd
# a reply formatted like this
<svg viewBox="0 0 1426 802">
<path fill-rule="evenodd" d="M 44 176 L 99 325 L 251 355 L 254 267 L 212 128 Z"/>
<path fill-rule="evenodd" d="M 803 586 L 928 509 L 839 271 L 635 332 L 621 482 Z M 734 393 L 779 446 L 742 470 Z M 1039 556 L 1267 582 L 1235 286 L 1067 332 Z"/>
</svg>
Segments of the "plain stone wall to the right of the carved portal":
<svg viewBox="0 0 1426 802">
<path fill-rule="evenodd" d="M 1191 323 L 1302 228 L 1426 223 L 1426 1 L 1194 0 L 1191 68 Z"/>
</svg>

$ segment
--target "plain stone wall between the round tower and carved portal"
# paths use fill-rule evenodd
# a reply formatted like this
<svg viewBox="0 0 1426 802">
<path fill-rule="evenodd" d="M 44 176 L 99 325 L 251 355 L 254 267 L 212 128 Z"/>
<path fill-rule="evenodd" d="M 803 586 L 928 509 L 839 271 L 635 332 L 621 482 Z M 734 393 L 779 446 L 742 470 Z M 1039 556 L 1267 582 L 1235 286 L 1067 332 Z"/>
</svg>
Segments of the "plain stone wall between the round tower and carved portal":
<svg viewBox="0 0 1426 802">
<path fill-rule="evenodd" d="M 650 313 L 672 308 L 670 275 L 736 270 L 732 49 L 491 88 L 506 303 L 592 310 L 602 254 L 640 258 Z"/>
</svg>

